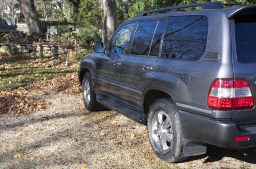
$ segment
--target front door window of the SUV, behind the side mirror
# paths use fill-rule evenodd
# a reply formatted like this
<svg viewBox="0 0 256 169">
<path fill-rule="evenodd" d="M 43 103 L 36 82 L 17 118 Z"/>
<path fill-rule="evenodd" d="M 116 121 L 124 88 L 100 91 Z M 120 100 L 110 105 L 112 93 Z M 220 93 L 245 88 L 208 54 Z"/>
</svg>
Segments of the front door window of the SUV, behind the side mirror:
<svg viewBox="0 0 256 169">
<path fill-rule="evenodd" d="M 136 23 L 130 23 L 122 26 L 110 43 L 110 53 L 127 53 L 127 48 L 131 39 L 131 35 Z"/>
</svg>

